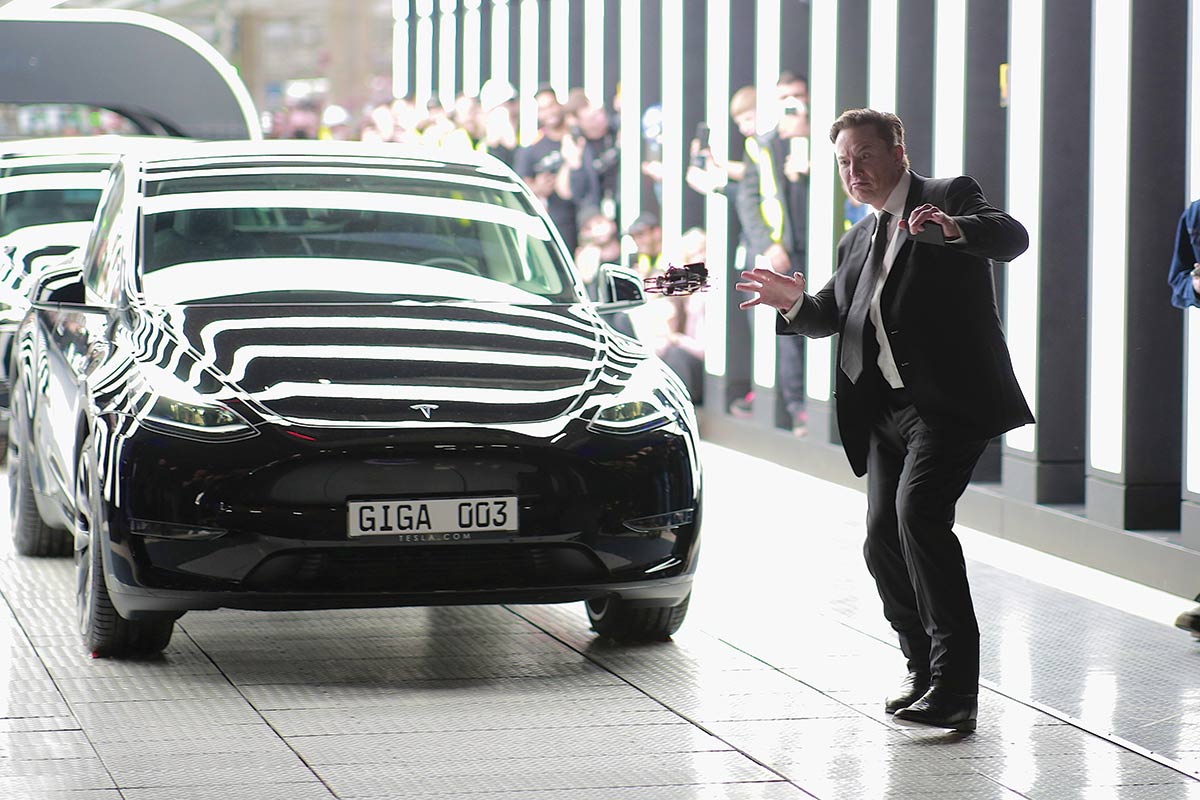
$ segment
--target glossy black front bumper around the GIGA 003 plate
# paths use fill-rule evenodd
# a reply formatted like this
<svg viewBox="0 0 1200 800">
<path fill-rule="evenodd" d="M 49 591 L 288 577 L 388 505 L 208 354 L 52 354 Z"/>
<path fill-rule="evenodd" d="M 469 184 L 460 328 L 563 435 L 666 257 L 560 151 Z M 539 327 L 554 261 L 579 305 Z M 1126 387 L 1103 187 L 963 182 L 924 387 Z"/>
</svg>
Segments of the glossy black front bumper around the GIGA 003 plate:
<svg viewBox="0 0 1200 800">
<path fill-rule="evenodd" d="M 613 594 L 674 604 L 696 566 L 700 470 L 676 427 L 581 427 L 553 445 L 499 431 L 204 444 L 140 429 L 115 452 L 106 572 L 125 615 Z M 520 529 L 451 543 L 348 535 L 348 500 L 460 497 L 517 498 Z"/>
</svg>

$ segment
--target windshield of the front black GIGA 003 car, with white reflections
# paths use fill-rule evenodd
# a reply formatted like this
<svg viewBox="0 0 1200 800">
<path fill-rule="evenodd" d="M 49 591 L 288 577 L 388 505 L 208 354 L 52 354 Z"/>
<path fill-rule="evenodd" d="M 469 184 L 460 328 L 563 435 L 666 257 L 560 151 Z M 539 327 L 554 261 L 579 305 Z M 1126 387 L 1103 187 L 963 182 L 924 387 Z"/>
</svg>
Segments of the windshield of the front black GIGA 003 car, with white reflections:
<svg viewBox="0 0 1200 800">
<path fill-rule="evenodd" d="M 142 290 L 156 305 L 576 302 L 517 186 L 474 172 L 330 166 L 150 173 Z"/>
</svg>

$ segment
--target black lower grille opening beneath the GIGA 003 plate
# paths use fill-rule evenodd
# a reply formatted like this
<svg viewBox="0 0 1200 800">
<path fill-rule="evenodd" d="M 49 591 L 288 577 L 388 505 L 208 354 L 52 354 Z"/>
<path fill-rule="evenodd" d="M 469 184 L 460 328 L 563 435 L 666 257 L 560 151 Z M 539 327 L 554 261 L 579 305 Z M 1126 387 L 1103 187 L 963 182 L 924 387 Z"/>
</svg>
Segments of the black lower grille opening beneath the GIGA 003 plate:
<svg viewBox="0 0 1200 800">
<path fill-rule="evenodd" d="M 252 591 L 421 593 L 559 587 L 606 576 L 594 557 L 572 545 L 443 545 L 280 553 L 242 585 Z"/>
</svg>

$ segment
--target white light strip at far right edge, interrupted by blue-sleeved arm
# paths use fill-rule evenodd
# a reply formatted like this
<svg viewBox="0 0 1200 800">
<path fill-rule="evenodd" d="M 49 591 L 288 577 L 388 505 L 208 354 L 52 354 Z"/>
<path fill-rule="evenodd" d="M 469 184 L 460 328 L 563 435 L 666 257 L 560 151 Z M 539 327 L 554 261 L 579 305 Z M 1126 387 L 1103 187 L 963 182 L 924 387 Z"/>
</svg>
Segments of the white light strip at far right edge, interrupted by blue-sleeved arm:
<svg viewBox="0 0 1200 800">
<path fill-rule="evenodd" d="M 1188 2 L 1188 191 L 1184 203 L 1200 198 L 1200 0 Z M 1186 207 L 1186 206 L 1184 206 Z M 1183 362 L 1183 543 L 1200 549 L 1200 311 L 1184 312 Z"/>
</svg>

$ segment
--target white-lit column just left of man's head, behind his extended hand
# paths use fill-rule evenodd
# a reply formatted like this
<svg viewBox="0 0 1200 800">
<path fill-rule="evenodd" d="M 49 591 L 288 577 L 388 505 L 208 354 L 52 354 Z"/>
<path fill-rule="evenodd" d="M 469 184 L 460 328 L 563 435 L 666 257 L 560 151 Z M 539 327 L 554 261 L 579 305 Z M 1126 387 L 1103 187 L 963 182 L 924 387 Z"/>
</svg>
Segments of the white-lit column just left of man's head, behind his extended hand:
<svg viewBox="0 0 1200 800">
<path fill-rule="evenodd" d="M 809 277 L 820 290 L 833 277 L 838 263 L 846 194 L 838 178 L 828 131 L 841 112 L 866 104 L 868 25 L 866 0 L 839 0 L 812 6 L 812 72 L 809 77 L 809 112 L 812 158 L 809 173 Z M 839 441 L 833 414 L 834 347 L 832 338 L 810 339 L 805 361 L 804 391 L 809 438 Z"/>
</svg>

